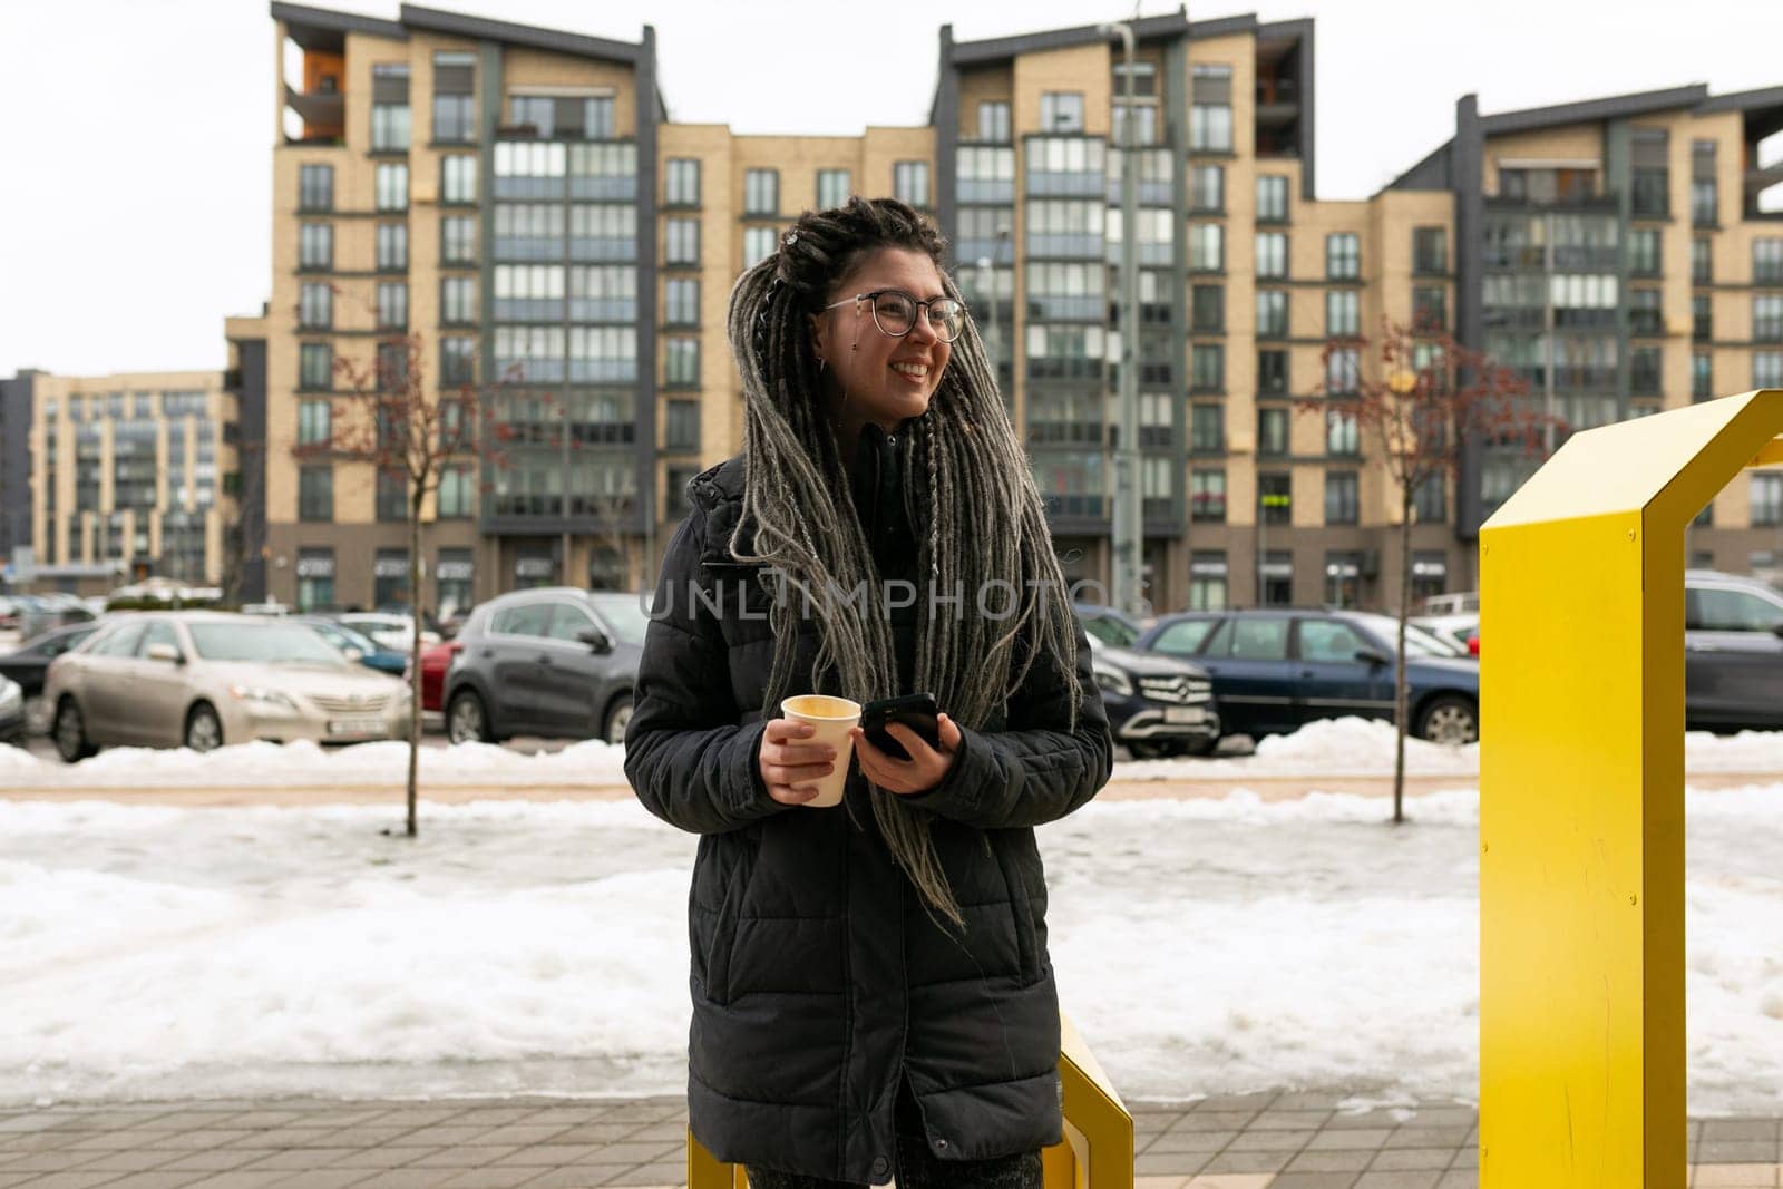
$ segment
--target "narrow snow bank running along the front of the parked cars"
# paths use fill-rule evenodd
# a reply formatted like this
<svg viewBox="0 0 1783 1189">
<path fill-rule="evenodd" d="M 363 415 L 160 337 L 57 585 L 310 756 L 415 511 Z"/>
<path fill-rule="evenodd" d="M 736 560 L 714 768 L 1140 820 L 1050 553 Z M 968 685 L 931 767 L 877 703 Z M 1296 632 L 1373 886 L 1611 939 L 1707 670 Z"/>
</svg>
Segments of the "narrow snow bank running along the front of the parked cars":
<svg viewBox="0 0 1783 1189">
<path fill-rule="evenodd" d="M 622 747 L 597 740 L 558 752 L 526 754 L 489 743 L 426 747 L 421 783 L 437 786 L 526 788 L 547 784 L 624 784 Z M 1455 775 L 1469 783 L 1480 774 L 1480 747 L 1439 747 L 1405 740 L 1405 768 L 1412 775 Z M 1708 772 L 1783 774 L 1783 731 L 1746 731 L 1715 736 L 1685 734 L 1685 768 Z M 401 784 L 408 745 L 358 743 L 325 750 L 316 743 L 239 743 L 209 754 L 118 747 L 91 759 L 64 765 L 16 747 L 0 747 L 0 788 L 273 788 L 341 784 Z M 1145 759 L 1123 763 L 1122 781 L 1357 777 L 1393 774 L 1393 726 L 1366 718 L 1330 718 L 1293 734 L 1266 738 L 1253 756 L 1228 759 Z"/>
</svg>

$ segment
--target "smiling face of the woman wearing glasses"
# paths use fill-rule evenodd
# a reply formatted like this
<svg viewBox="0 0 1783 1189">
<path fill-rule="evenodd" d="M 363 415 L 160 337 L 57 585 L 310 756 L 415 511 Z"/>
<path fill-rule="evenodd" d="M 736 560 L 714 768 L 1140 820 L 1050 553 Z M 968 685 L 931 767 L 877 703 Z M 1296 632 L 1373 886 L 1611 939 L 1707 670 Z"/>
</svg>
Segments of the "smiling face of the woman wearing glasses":
<svg viewBox="0 0 1783 1189">
<path fill-rule="evenodd" d="M 833 285 L 826 305 L 879 289 L 902 289 L 918 301 L 945 296 L 941 273 L 925 253 L 883 248 Z M 916 316 L 916 324 L 900 339 L 883 333 L 874 324 L 868 301 L 815 316 L 811 342 L 817 357 L 826 362 L 824 401 L 829 422 L 842 422 L 836 437 L 843 444 L 854 442 L 867 422 L 890 431 L 900 421 L 929 412 L 929 398 L 941 383 L 941 371 L 952 353 L 924 314 Z"/>
</svg>

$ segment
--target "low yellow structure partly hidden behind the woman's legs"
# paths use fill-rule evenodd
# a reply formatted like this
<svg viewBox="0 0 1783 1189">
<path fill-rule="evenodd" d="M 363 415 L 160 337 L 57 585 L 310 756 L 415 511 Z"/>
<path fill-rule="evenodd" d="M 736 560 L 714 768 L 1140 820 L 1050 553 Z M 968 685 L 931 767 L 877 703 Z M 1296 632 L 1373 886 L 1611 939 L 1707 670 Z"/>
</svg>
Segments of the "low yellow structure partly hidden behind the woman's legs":
<svg viewBox="0 0 1783 1189">
<path fill-rule="evenodd" d="M 1064 1139 L 1041 1150 L 1047 1189 L 1132 1189 L 1132 1114 L 1102 1064 L 1059 1014 L 1059 1082 L 1064 1087 Z M 688 1189 L 745 1189 L 740 1164 L 724 1164 L 686 1134 Z"/>
</svg>

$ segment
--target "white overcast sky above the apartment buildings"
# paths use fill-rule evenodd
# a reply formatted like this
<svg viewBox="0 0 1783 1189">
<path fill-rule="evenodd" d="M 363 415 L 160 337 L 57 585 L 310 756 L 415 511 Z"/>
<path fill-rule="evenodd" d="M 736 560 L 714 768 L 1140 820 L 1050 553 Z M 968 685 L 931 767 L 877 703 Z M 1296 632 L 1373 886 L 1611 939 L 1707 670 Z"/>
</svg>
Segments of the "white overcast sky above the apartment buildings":
<svg viewBox="0 0 1783 1189">
<path fill-rule="evenodd" d="M 435 7 L 624 41 L 647 21 L 670 119 L 847 135 L 927 121 L 947 20 L 968 41 L 1132 14 L 1093 0 Z M 1783 86 L 1778 0 L 1232 0 L 1189 14 L 1248 11 L 1318 18 L 1319 198 L 1366 198 L 1441 144 L 1467 91 L 1496 112 Z M 259 312 L 269 289 L 275 62 L 264 0 L 0 0 L 0 376 L 223 365 L 221 319 Z"/>
</svg>

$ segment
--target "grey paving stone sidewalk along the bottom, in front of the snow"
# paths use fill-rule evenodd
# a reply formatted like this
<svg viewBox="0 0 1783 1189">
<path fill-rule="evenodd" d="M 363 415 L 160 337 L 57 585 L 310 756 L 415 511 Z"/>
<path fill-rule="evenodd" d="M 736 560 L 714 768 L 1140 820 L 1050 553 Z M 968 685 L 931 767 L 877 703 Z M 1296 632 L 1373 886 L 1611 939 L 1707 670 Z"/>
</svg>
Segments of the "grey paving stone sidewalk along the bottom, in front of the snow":
<svg viewBox="0 0 1783 1189">
<path fill-rule="evenodd" d="M 1139 1189 L 1458 1189 L 1457 1103 L 1346 1093 L 1132 1103 Z M 0 1111 L 0 1189 L 579 1189 L 686 1184 L 683 1098 L 182 1102 Z M 1783 1121 L 1690 1123 L 1692 1185 L 1783 1189 Z"/>
</svg>

